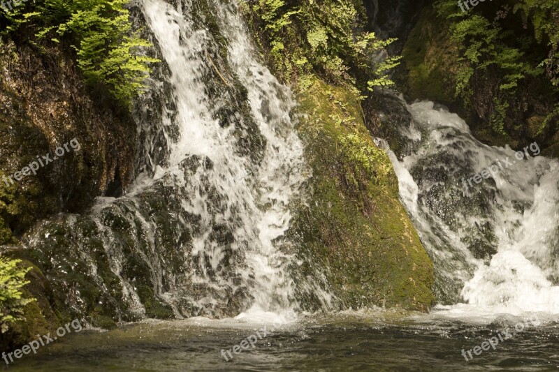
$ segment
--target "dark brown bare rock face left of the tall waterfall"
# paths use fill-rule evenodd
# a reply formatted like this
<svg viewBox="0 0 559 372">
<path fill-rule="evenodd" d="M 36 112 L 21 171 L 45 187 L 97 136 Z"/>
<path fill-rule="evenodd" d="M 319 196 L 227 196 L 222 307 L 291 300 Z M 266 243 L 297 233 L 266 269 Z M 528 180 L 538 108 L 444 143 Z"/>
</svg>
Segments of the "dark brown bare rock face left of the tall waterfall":
<svg viewBox="0 0 559 372">
<path fill-rule="evenodd" d="M 100 91 L 90 95 L 58 50 L 41 55 L 8 42 L 0 64 L 0 244 L 13 244 L 38 219 L 118 195 L 131 179 L 136 125 Z M 36 175 L 14 179 L 47 154 L 52 162 Z"/>
</svg>

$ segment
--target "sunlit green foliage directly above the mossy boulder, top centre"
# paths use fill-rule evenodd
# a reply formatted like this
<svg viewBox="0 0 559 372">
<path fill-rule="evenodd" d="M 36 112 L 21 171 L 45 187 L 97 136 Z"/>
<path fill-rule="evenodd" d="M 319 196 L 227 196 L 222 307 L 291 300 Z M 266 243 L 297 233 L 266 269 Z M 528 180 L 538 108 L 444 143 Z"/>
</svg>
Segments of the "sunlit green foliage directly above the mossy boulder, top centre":
<svg viewBox="0 0 559 372">
<path fill-rule="evenodd" d="M 255 28 L 263 30 L 261 47 L 268 48 L 275 70 L 285 80 L 315 72 L 331 82 L 355 84 L 354 77 L 362 77 L 371 90 L 389 86 L 393 82 L 386 70 L 397 66 L 399 57 L 379 64 L 371 61 L 395 39 L 356 32 L 362 26 L 358 9 L 364 13 L 359 6 L 354 0 L 258 0 L 242 8 Z"/>
</svg>

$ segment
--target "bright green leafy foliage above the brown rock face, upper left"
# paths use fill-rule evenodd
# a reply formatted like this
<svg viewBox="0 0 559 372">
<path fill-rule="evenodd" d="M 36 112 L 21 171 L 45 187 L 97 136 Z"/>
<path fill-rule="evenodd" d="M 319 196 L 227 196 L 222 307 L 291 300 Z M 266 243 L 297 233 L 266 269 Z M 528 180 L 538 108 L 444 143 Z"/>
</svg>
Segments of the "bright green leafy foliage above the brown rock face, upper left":
<svg viewBox="0 0 559 372">
<path fill-rule="evenodd" d="M 67 40 L 76 52 L 85 81 L 101 84 L 125 105 L 140 94 L 149 65 L 157 59 L 140 54 L 150 43 L 131 31 L 127 0 L 39 0 L 20 3 L 4 12 L 14 32 L 28 27 L 36 32 L 33 43 Z M 33 10 L 27 13 L 27 10 Z"/>
</svg>

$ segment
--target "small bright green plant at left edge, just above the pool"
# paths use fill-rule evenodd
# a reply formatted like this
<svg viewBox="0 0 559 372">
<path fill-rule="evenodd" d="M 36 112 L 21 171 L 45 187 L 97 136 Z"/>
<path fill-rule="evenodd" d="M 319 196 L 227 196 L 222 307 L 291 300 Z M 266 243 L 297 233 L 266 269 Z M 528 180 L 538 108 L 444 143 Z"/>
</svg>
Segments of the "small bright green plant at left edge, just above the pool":
<svg viewBox="0 0 559 372">
<path fill-rule="evenodd" d="M 20 260 L 8 260 L 0 256 L 0 332 L 8 330 L 10 323 L 23 318 L 23 308 L 34 299 L 22 298 L 25 274 L 31 268 L 18 267 Z"/>
</svg>

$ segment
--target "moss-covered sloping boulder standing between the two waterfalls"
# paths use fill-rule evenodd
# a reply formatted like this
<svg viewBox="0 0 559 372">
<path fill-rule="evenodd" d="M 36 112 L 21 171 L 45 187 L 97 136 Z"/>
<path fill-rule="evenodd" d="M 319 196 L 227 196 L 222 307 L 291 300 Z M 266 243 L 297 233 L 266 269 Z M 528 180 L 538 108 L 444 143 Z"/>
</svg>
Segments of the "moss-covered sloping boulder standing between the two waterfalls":
<svg viewBox="0 0 559 372">
<path fill-rule="evenodd" d="M 305 114 L 298 129 L 312 200 L 291 230 L 303 237 L 303 275 L 322 271 L 342 307 L 426 311 L 434 301 L 433 264 L 400 204 L 391 162 L 372 142 L 354 91 L 311 80 L 298 94 Z M 303 299 L 311 296 L 304 292 Z"/>
</svg>

